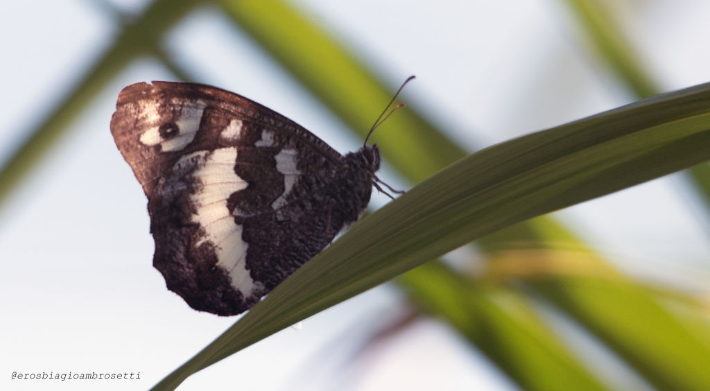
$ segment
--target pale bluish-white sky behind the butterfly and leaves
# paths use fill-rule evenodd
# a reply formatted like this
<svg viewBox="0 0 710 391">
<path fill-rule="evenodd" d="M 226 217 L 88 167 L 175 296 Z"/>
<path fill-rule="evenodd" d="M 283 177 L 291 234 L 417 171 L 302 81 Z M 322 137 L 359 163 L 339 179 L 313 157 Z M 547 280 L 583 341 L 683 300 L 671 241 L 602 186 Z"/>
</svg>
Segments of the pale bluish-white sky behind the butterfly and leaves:
<svg viewBox="0 0 710 391">
<path fill-rule="evenodd" d="M 144 1 L 107 3 L 136 11 Z M 0 161 L 111 45 L 119 26 L 99 4 L 0 5 Z M 633 100 L 585 50 L 561 1 L 293 4 L 393 91 L 417 75 L 403 100 L 426 108 L 471 150 Z M 710 2 L 613 4 L 663 89 L 710 81 Z M 342 153 L 359 147 L 217 12 L 191 13 L 170 33 L 168 48 L 200 75 L 195 81 L 259 101 Z M 151 265 L 146 199 L 116 150 L 109 119 L 122 87 L 152 79 L 174 78 L 149 58 L 122 72 L 0 209 L 0 389 L 145 390 L 236 320 L 193 311 Z M 381 177 L 406 187 L 391 171 Z M 555 215 L 628 272 L 706 290 L 710 230 L 686 188 L 671 175 Z M 373 205 L 384 202 L 375 197 Z M 179 390 L 516 389 L 434 320 L 351 360 L 371 333 L 396 319 L 402 303 L 393 287 L 377 287 L 193 375 Z M 13 371 L 140 372 L 141 380 L 11 380 Z"/>
</svg>

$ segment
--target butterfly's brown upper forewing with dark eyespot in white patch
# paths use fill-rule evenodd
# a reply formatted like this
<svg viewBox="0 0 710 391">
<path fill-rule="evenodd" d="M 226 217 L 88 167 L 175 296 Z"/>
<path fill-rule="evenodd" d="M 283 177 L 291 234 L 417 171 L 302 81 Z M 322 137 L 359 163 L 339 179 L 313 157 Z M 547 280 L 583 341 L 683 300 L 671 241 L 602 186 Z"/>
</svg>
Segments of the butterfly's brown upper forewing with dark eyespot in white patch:
<svg viewBox="0 0 710 391">
<path fill-rule="evenodd" d="M 236 135 L 229 128 L 236 131 L 239 121 L 242 126 Z M 205 84 L 131 84 L 119 94 L 111 117 L 116 145 L 148 196 L 165 169 L 183 155 L 253 145 L 263 130 L 278 135 L 281 145 L 297 144 L 334 165 L 342 162 L 342 155 L 294 121 L 241 95 Z"/>
</svg>

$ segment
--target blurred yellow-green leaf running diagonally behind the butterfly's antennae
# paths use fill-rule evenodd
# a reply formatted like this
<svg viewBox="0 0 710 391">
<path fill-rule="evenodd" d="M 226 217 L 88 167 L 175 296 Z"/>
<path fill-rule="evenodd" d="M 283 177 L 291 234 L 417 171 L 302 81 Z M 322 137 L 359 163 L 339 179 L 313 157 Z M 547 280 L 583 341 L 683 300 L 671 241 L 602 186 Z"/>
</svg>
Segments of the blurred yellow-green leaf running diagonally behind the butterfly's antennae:
<svg viewBox="0 0 710 391">
<path fill-rule="evenodd" d="M 278 0 L 219 1 L 236 25 L 268 50 L 288 72 L 365 136 L 398 86 L 385 87 L 329 35 Z M 402 75 L 404 82 L 409 75 Z M 373 135 L 389 163 L 420 182 L 465 155 L 424 116 L 400 110 Z M 416 159 L 412 159 L 416 156 Z"/>
</svg>

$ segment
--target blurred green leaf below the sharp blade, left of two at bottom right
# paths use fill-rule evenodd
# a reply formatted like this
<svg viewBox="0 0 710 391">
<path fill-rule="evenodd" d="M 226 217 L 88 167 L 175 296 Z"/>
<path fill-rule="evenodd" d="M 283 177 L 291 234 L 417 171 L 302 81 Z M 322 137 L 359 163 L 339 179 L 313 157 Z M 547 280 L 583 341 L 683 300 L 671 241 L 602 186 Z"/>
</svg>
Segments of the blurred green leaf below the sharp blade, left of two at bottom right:
<svg viewBox="0 0 710 391">
<path fill-rule="evenodd" d="M 417 302 L 454 324 L 524 390 L 606 390 L 517 290 L 471 284 L 436 262 L 401 278 Z"/>
</svg>

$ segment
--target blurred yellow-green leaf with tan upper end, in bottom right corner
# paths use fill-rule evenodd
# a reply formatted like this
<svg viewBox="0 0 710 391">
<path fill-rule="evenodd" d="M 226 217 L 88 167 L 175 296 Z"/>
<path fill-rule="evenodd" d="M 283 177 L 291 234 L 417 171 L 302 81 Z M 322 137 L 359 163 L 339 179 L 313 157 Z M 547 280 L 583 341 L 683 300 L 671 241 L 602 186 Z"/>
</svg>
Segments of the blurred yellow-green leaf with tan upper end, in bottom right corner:
<svg viewBox="0 0 710 391">
<path fill-rule="evenodd" d="M 501 251 L 474 283 L 504 280 L 544 294 L 659 390 L 710 385 L 709 324 L 688 294 L 629 280 L 586 250 Z M 670 300 L 694 312 L 667 311 Z"/>
</svg>

